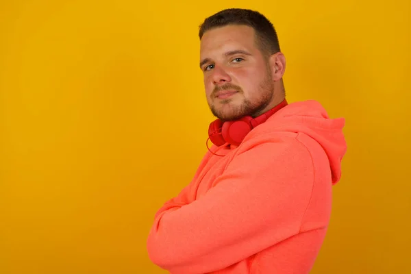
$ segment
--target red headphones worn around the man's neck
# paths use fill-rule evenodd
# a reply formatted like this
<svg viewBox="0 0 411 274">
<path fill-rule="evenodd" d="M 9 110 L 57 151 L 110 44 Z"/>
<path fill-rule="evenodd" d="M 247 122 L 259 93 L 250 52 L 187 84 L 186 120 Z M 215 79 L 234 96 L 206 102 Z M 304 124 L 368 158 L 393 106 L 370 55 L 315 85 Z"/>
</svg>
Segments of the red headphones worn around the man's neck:
<svg viewBox="0 0 411 274">
<path fill-rule="evenodd" d="M 264 123 L 269 116 L 273 115 L 275 112 L 284 108 L 288 103 L 286 99 L 272 108 L 268 112 L 253 118 L 251 116 L 244 116 L 236 121 L 224 122 L 220 119 L 216 119 L 208 127 L 208 137 L 216 146 L 224 145 L 228 142 L 230 145 L 240 145 L 242 140 L 247 136 L 247 134 L 254 127 Z"/>
</svg>

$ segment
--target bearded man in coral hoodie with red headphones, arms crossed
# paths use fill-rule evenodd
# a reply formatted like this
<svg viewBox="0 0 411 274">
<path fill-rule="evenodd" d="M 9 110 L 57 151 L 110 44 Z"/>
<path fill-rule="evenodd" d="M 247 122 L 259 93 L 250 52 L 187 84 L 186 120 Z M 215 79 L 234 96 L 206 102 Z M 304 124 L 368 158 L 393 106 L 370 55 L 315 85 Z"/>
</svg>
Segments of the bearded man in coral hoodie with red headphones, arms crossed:
<svg viewBox="0 0 411 274">
<path fill-rule="evenodd" d="M 309 273 L 340 180 L 345 120 L 316 101 L 287 103 L 286 61 L 262 14 L 223 10 L 199 36 L 214 145 L 155 214 L 149 258 L 173 274 Z"/>
</svg>

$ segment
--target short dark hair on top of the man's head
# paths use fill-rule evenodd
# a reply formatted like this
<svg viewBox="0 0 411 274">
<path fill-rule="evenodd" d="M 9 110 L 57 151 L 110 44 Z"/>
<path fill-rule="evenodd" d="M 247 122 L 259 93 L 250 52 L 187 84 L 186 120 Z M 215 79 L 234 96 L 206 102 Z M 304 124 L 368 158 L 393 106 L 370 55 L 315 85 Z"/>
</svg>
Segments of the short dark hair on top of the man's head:
<svg viewBox="0 0 411 274">
<path fill-rule="evenodd" d="M 206 18 L 200 25 L 199 38 L 210 29 L 227 25 L 247 25 L 256 32 L 256 42 L 262 53 L 272 55 L 280 51 L 277 32 L 273 24 L 260 12 L 229 8 Z"/>
</svg>

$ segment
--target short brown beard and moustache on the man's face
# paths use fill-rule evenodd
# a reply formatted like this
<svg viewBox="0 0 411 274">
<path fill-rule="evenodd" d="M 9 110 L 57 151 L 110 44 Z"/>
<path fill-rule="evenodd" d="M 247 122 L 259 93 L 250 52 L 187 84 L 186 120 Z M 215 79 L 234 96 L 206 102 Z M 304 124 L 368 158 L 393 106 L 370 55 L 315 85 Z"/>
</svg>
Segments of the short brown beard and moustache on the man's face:
<svg viewBox="0 0 411 274">
<path fill-rule="evenodd" d="M 269 68 L 267 68 L 269 70 Z M 216 86 L 211 94 L 212 99 L 215 98 L 215 92 L 219 90 L 237 90 L 239 94 L 242 94 L 242 89 L 239 86 L 233 84 L 225 84 L 224 86 Z M 234 99 L 221 100 L 220 108 L 216 108 L 216 105 L 210 103 L 210 110 L 214 116 L 221 121 L 234 121 L 242 118 L 243 116 L 255 117 L 260 113 L 267 105 L 272 101 L 274 95 L 274 85 L 271 79 L 271 70 L 267 71 L 266 77 L 258 85 L 256 90 L 253 90 L 256 97 L 253 99 L 243 99 L 240 105 L 231 104 Z M 235 95 L 234 95 L 235 96 Z"/>
</svg>

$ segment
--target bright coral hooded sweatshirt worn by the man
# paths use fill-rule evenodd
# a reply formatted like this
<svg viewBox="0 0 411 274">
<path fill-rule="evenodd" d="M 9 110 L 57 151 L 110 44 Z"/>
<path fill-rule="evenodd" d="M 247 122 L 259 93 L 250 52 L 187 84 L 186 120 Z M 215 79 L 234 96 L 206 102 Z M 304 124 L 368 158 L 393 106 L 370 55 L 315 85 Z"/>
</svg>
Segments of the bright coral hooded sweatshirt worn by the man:
<svg viewBox="0 0 411 274">
<path fill-rule="evenodd" d="M 344 125 L 301 101 L 238 147 L 210 147 L 192 182 L 155 214 L 151 261 L 172 274 L 309 273 L 341 177 Z"/>
</svg>

